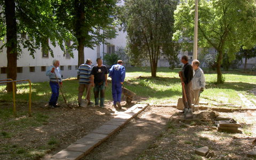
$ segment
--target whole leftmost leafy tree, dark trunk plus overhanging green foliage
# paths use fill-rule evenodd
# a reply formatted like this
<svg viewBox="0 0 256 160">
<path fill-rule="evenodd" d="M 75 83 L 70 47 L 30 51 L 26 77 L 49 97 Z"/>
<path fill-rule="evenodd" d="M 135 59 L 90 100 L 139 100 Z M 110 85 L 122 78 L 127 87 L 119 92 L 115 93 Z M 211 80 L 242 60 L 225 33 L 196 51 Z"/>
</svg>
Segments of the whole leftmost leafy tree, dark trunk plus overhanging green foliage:
<svg viewBox="0 0 256 160">
<path fill-rule="evenodd" d="M 66 36 L 62 35 L 68 31 L 55 23 L 52 1 L 0 0 L 0 41 L 3 42 L 0 49 L 7 48 L 7 78 L 17 78 L 17 59 L 22 48 L 34 58 L 35 50 L 43 46 L 53 56 L 49 43 L 43 41 L 49 38 L 53 46 L 58 43 L 65 50 L 63 41 Z M 28 38 L 22 38 L 21 33 L 26 33 Z M 12 91 L 10 83 L 7 91 Z"/>
</svg>

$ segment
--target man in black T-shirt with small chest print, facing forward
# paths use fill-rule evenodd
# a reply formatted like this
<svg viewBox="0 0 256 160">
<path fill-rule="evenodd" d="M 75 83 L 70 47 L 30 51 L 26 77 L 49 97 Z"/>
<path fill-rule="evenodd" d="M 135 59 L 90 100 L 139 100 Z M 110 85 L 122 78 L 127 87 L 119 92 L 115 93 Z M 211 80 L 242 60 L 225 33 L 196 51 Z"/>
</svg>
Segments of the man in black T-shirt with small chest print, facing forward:
<svg viewBox="0 0 256 160">
<path fill-rule="evenodd" d="M 108 85 L 108 70 L 102 65 L 102 59 L 97 58 L 97 65 L 92 67 L 91 83 L 94 86 L 95 106 L 99 106 L 99 92 L 100 92 L 100 107 L 104 107 L 105 87 Z"/>
</svg>

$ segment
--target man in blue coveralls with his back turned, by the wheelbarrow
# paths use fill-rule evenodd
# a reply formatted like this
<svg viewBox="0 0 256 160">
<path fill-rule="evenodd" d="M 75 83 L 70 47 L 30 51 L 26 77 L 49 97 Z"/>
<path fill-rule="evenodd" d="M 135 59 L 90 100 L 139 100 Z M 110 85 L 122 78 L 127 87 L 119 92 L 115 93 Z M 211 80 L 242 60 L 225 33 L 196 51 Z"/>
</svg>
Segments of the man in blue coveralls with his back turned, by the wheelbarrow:
<svg viewBox="0 0 256 160">
<path fill-rule="evenodd" d="M 118 106 L 118 109 L 121 107 L 121 95 L 122 95 L 122 84 L 125 78 L 125 67 L 123 66 L 123 61 L 118 60 L 116 65 L 113 65 L 109 69 L 109 77 L 112 79 L 112 96 L 114 101 L 114 107 Z"/>
</svg>

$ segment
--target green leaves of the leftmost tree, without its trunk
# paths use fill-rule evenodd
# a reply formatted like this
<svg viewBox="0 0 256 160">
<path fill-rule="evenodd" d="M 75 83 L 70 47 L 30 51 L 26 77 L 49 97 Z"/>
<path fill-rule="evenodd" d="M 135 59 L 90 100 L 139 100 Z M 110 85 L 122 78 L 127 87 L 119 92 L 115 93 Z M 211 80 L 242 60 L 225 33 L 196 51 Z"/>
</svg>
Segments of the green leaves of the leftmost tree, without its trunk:
<svg viewBox="0 0 256 160">
<path fill-rule="evenodd" d="M 15 1 L 15 18 L 17 21 L 17 38 L 18 55 L 22 53 L 22 49 L 25 48 L 29 51 L 29 54 L 35 58 L 34 54 L 36 50 L 40 49 L 41 46 L 50 51 L 53 57 L 53 51 L 48 43 L 45 43 L 43 39 L 49 38 L 51 44 L 55 47 L 58 45 L 62 51 L 65 51 L 63 42 L 68 39 L 68 30 L 61 28 L 55 21 L 54 10 L 51 5 L 52 1 Z M 3 41 L 3 47 L 9 44 L 4 42 L 6 36 L 6 22 L 5 22 L 5 5 L 0 1 L 0 40 Z M 22 38 L 21 34 L 27 34 L 27 38 Z M 11 42 L 10 42 L 11 43 Z M 71 55 L 73 55 L 71 53 Z"/>
</svg>

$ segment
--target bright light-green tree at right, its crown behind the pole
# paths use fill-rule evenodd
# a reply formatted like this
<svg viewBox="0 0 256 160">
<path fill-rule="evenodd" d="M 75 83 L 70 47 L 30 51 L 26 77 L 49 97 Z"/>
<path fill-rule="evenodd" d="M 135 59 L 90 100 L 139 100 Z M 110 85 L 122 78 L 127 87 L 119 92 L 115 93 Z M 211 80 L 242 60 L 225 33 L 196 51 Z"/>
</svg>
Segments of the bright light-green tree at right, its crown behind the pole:
<svg viewBox="0 0 256 160">
<path fill-rule="evenodd" d="M 217 83 L 221 79 L 223 53 L 235 59 L 241 45 L 251 48 L 256 43 L 256 9 L 254 0 L 201 0 L 198 6 L 198 46 L 214 47 L 217 50 Z M 174 39 L 182 40 L 183 47 L 193 42 L 194 35 L 193 0 L 182 0 L 175 11 Z"/>
</svg>

